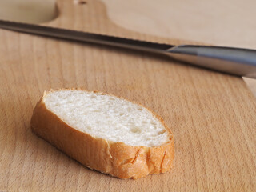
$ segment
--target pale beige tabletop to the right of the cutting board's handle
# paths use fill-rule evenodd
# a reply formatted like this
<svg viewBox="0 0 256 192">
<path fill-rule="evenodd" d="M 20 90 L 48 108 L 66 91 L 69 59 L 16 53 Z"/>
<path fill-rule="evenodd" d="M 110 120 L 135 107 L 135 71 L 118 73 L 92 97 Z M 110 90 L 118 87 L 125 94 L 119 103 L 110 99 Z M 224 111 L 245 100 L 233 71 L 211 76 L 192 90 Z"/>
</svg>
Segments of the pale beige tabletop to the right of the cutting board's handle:
<svg viewBox="0 0 256 192">
<path fill-rule="evenodd" d="M 112 22 L 127 30 L 215 46 L 256 49 L 254 0 L 102 0 Z M 244 78 L 256 96 L 256 80 Z"/>
</svg>

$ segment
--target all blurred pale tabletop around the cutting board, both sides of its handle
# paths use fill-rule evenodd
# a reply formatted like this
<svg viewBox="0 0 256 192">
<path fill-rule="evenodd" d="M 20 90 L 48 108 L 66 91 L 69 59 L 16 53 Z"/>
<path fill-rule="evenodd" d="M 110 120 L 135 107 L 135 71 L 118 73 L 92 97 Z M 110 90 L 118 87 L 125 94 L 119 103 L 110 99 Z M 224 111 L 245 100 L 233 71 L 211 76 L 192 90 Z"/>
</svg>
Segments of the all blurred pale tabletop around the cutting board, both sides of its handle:
<svg viewBox="0 0 256 192">
<path fill-rule="evenodd" d="M 61 0 L 59 0 L 61 1 Z M 89 0 L 68 0 L 86 9 Z M 214 46 L 256 49 L 254 0 L 102 0 L 111 22 L 127 30 Z M 0 18 L 46 23 L 62 14 L 55 0 L 1 0 Z M 97 17 L 97 15 L 96 15 Z M 114 35 L 114 34 L 113 34 Z M 244 78 L 256 95 L 256 81 Z"/>
</svg>

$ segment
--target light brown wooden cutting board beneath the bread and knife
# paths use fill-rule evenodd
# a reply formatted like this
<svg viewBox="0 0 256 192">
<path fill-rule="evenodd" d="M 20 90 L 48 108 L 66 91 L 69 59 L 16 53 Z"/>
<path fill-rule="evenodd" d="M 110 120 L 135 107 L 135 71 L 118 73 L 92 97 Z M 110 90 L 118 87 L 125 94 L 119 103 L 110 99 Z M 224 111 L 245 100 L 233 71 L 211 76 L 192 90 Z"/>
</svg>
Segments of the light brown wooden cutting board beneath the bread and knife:
<svg viewBox="0 0 256 192">
<path fill-rule="evenodd" d="M 182 43 L 125 30 L 102 2 L 58 2 L 50 26 Z M 242 78 L 134 51 L 0 30 L 0 190 L 254 191 L 256 102 Z M 31 133 L 43 90 L 82 87 L 150 107 L 174 133 L 174 168 L 121 180 L 88 170 Z"/>
</svg>

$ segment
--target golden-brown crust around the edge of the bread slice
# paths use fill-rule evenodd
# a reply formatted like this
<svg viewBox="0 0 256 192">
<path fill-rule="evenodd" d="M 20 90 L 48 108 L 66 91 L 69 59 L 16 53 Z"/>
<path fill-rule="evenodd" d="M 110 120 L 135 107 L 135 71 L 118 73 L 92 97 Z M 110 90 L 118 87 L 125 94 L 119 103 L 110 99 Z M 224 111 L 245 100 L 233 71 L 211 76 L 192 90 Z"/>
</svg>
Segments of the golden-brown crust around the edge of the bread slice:
<svg viewBox="0 0 256 192">
<path fill-rule="evenodd" d="M 152 147 L 128 146 L 123 142 L 94 138 L 67 125 L 46 108 L 44 97 L 52 91 L 54 90 L 45 92 L 34 108 L 31 118 L 31 129 L 34 134 L 44 138 L 84 166 L 117 178 L 137 179 L 146 177 L 148 174 L 160 174 L 170 170 L 174 159 L 174 137 L 162 118 L 154 112 L 150 110 L 168 131 L 169 142 Z M 93 92 L 103 94 L 98 91 Z"/>
</svg>

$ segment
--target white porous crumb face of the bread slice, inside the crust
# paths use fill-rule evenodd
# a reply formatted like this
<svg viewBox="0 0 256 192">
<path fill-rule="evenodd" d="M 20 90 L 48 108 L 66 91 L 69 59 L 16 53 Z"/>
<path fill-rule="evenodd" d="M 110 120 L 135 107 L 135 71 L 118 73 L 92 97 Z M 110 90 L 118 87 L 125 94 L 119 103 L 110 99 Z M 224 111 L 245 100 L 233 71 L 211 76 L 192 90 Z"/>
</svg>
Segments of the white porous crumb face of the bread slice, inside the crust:
<svg viewBox="0 0 256 192">
<path fill-rule="evenodd" d="M 46 94 L 46 108 L 69 126 L 130 146 L 160 146 L 169 141 L 162 123 L 145 107 L 111 95 L 82 90 Z"/>
</svg>

